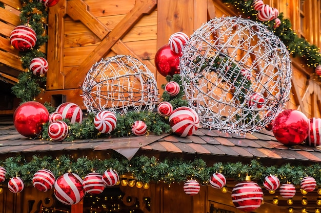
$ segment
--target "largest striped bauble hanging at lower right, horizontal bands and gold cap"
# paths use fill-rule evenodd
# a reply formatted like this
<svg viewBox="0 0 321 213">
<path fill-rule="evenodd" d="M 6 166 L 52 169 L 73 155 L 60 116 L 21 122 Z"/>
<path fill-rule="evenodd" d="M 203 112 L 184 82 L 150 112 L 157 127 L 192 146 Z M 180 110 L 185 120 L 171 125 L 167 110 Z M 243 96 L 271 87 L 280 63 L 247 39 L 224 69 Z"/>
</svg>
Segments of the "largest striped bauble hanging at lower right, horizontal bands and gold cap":
<svg viewBox="0 0 321 213">
<path fill-rule="evenodd" d="M 232 201 L 242 211 L 252 211 L 262 204 L 262 188 L 253 181 L 237 183 L 232 190 Z"/>
</svg>

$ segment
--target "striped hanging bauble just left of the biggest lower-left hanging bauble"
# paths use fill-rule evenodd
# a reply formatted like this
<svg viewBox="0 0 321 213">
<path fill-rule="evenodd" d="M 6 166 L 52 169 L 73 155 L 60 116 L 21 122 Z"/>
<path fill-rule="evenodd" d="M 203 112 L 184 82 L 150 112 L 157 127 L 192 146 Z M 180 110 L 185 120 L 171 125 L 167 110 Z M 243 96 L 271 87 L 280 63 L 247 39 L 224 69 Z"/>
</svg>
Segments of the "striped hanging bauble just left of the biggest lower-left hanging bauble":
<svg viewBox="0 0 321 213">
<path fill-rule="evenodd" d="M 47 192 L 53 188 L 55 180 L 55 176 L 50 170 L 43 169 L 34 173 L 32 184 L 37 190 Z"/>
</svg>

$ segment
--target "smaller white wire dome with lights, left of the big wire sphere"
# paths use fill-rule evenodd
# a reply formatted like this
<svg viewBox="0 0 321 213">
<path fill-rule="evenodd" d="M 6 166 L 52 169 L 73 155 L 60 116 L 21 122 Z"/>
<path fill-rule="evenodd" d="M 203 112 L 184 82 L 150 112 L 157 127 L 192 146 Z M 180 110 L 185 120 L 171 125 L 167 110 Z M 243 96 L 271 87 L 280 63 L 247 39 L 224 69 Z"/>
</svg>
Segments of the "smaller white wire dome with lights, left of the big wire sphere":
<svg viewBox="0 0 321 213">
<path fill-rule="evenodd" d="M 141 61 L 126 55 L 95 63 L 82 90 L 85 107 L 95 114 L 107 109 L 121 114 L 152 111 L 159 99 L 154 75 Z"/>
</svg>

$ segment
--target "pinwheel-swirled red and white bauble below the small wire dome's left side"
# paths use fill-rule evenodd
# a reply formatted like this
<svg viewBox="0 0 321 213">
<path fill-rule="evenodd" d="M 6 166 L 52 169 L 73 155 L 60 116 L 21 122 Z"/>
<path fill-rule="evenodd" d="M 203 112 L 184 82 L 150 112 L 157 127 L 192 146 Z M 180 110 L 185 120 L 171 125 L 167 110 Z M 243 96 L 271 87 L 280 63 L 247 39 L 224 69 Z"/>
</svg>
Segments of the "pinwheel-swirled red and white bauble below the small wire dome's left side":
<svg viewBox="0 0 321 213">
<path fill-rule="evenodd" d="M 94 119 L 95 128 L 101 133 L 110 133 L 117 126 L 117 117 L 108 110 L 98 112 Z"/>
</svg>

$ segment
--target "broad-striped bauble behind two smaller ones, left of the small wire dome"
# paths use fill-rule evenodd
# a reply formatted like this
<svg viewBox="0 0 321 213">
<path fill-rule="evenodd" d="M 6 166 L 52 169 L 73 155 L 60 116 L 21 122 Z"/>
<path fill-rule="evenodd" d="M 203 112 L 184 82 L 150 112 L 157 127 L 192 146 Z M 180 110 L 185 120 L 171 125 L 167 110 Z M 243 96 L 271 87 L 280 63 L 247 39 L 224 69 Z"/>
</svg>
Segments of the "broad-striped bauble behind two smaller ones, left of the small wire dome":
<svg viewBox="0 0 321 213">
<path fill-rule="evenodd" d="M 57 107 L 56 112 L 61 113 L 63 118 L 68 119 L 71 124 L 83 122 L 83 111 L 77 104 L 63 103 Z"/>
</svg>

